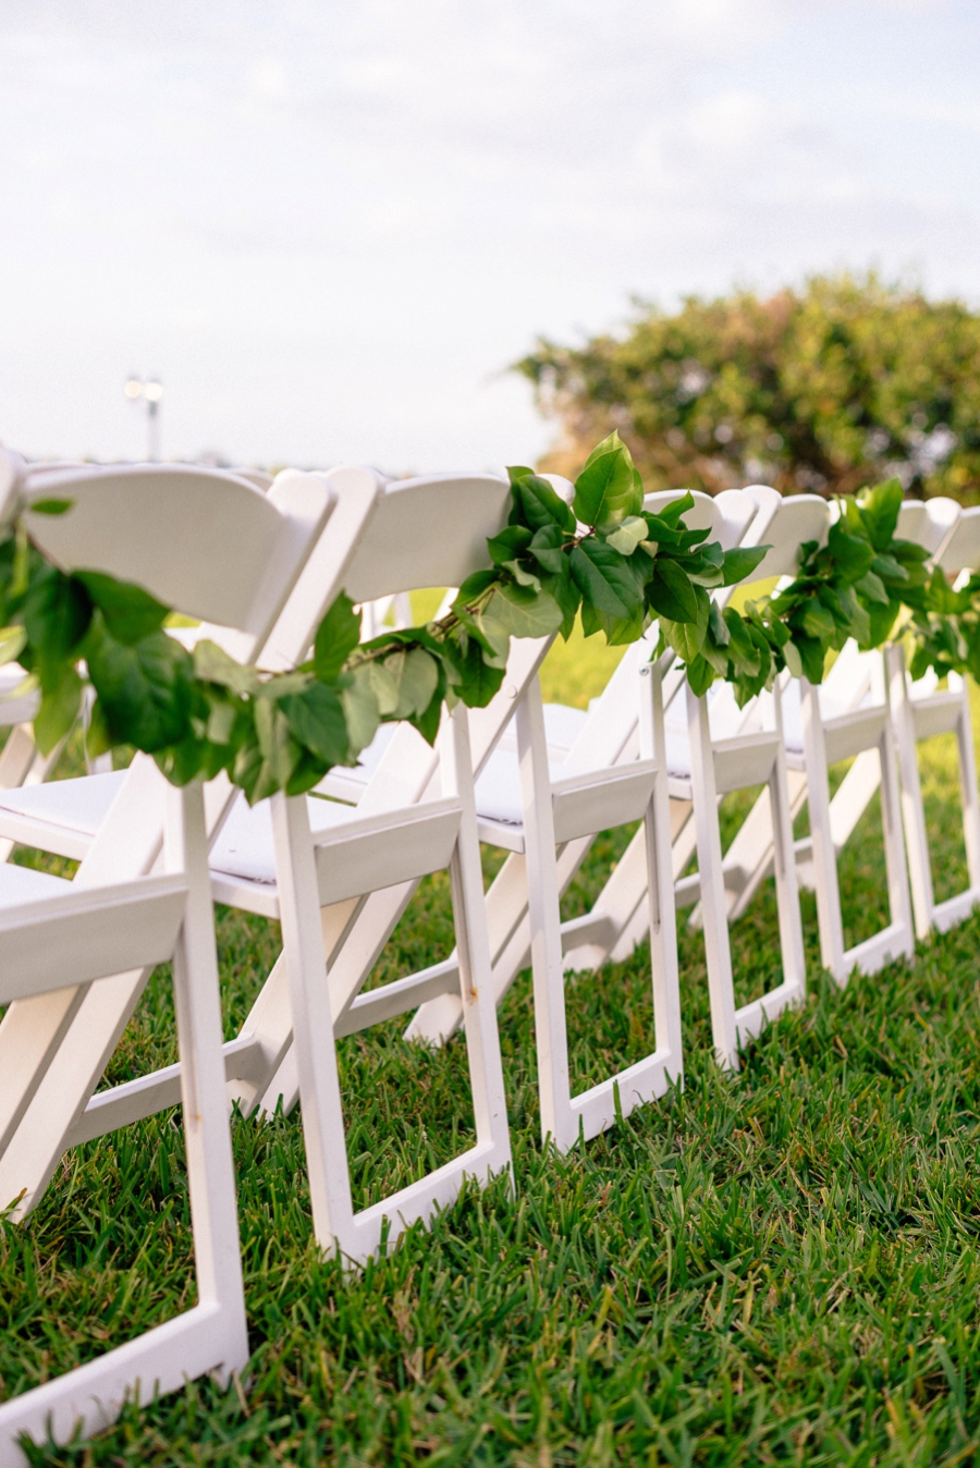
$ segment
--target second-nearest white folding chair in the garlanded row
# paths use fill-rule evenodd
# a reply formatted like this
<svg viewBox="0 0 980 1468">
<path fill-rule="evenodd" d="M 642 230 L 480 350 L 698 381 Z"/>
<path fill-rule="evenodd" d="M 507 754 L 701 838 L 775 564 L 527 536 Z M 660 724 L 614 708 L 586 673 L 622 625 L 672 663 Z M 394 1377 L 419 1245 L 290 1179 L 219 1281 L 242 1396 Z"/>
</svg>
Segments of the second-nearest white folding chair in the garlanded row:
<svg viewBox="0 0 980 1468">
<path fill-rule="evenodd" d="M 348 595 L 374 602 L 383 595 L 459 584 L 486 565 L 486 540 L 502 526 L 508 506 L 509 486 L 486 476 L 389 486 L 349 567 Z M 433 524 L 440 526 L 436 539 L 428 530 Z M 462 705 L 443 719 L 437 766 L 433 771 L 433 752 L 406 725 L 398 730 L 356 809 L 320 802 L 323 809 L 317 812 L 317 802 L 280 796 L 271 800 L 274 893 L 289 975 L 314 1229 L 324 1248 L 339 1248 L 354 1262 L 377 1251 L 386 1220 L 393 1240 L 412 1221 L 449 1204 L 464 1177 L 486 1179 L 511 1166 L 468 715 Z M 420 800 L 421 782 L 427 788 Z M 320 818 L 317 829 L 311 815 Z M 252 826 L 260 819 L 252 813 Z M 241 829 L 229 831 L 227 841 L 241 851 L 244 835 Z M 235 854 L 219 843 L 213 865 L 233 869 Z M 252 862 L 260 860 L 255 850 Z M 245 876 L 242 865 L 229 873 L 239 882 Z M 452 876 L 456 992 L 464 1007 L 475 1144 L 434 1173 L 355 1213 L 336 1039 L 365 1028 L 358 1009 L 367 1009 L 370 1022 L 377 1022 L 403 1013 L 405 1000 L 398 981 L 371 989 L 361 1006 L 358 994 L 367 973 L 343 991 L 334 982 L 337 913 L 342 904 L 362 909 L 379 891 L 414 888 L 420 878 L 443 868 Z"/>
</svg>

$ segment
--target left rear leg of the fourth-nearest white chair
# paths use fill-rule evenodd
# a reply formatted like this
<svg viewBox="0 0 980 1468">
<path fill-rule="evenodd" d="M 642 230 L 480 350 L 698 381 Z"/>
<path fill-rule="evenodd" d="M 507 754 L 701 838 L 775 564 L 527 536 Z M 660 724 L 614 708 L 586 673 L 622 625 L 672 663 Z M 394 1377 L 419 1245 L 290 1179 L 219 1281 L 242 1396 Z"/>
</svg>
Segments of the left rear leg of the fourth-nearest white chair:
<svg viewBox="0 0 980 1468">
<path fill-rule="evenodd" d="M 687 699 L 694 821 L 697 826 L 697 865 L 701 878 L 701 923 L 704 928 L 714 1054 L 719 1066 L 725 1070 L 738 1070 L 735 976 L 732 973 L 725 873 L 722 871 L 722 835 L 717 825 L 714 752 L 712 749 L 707 699 L 698 699 L 690 687 Z"/>
</svg>

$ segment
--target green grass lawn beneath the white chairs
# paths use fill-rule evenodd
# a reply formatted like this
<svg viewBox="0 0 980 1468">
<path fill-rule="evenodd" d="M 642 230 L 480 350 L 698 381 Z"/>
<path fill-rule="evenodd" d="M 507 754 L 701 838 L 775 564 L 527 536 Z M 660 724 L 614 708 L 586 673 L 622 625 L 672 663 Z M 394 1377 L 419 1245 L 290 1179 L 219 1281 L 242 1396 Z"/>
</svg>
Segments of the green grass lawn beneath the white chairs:
<svg viewBox="0 0 980 1468">
<path fill-rule="evenodd" d="M 585 703 L 615 655 L 571 643 L 547 696 Z M 962 882 L 949 741 L 926 752 L 939 895 Z M 734 825 L 738 809 L 726 810 Z M 849 940 L 882 920 L 870 810 L 841 863 Z M 601 838 L 582 907 L 622 850 Z M 490 866 L 489 866 L 490 871 Z M 734 929 L 739 998 L 778 966 L 769 890 Z M 252 1361 L 129 1409 L 51 1464 L 970 1462 L 980 1442 L 980 918 L 838 992 L 804 894 L 810 998 L 712 1060 L 704 945 L 681 929 L 687 1082 L 565 1158 L 543 1152 L 530 978 L 502 1014 L 515 1195 L 469 1189 L 428 1232 L 345 1277 L 311 1240 L 299 1117 L 238 1120 Z M 420 891 L 395 976 L 452 941 L 447 884 Z M 274 925 L 219 913 L 227 1033 L 277 953 Z M 569 982 L 585 1085 L 650 1047 L 646 950 Z M 342 1042 L 364 1205 L 467 1145 L 465 1053 L 401 1025 Z M 175 1055 L 166 973 L 116 1055 Z M 65 1158 L 26 1226 L 0 1224 L 0 1398 L 122 1343 L 192 1299 L 179 1116 Z"/>
</svg>

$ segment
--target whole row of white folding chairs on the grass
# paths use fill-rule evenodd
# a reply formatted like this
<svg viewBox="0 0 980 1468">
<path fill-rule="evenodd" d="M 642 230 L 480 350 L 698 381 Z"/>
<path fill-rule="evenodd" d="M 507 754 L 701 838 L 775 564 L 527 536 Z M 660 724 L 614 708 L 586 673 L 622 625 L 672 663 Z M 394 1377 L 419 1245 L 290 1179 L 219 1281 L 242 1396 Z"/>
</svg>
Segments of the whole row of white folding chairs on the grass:
<svg viewBox="0 0 980 1468">
<path fill-rule="evenodd" d="M 0 489 L 28 502 L 54 492 L 70 499 L 63 517 L 26 515 L 37 543 L 59 564 L 138 581 L 200 619 L 194 636 L 210 636 L 270 669 L 307 655 L 342 589 L 374 608 L 377 630 L 384 602 L 459 586 L 486 564 L 486 540 L 509 509 L 509 487 L 493 476 L 384 483 L 364 468 L 286 471 L 266 490 L 235 473 L 65 465 L 25 473 L 9 458 Z M 670 498 L 647 496 L 647 508 Z M 726 548 L 770 546 L 754 573 L 758 581 L 791 577 L 800 545 L 829 527 L 830 509 L 816 496 L 780 499 L 751 487 L 694 501 L 688 523 Z M 974 512 L 954 511 L 937 502 L 907 505 L 899 527 L 949 571 L 980 559 Z M 725 599 L 731 589 L 714 595 Z M 609 1127 L 618 1108 L 628 1114 L 682 1080 L 676 907 L 697 904 L 714 1048 L 729 1067 L 767 1022 L 804 997 L 798 873 L 816 887 L 822 956 L 839 982 L 855 964 L 873 972 L 910 954 L 901 806 L 905 831 L 918 829 L 924 841 L 915 738 L 940 728 L 959 735 L 970 888 L 959 906 L 933 903 L 924 912 L 942 923 L 976 901 L 980 840 L 964 688 L 913 688 L 910 696 L 898 650 L 889 652 L 886 686 L 876 672 L 880 655 L 848 649 L 820 688 L 778 684 L 738 711 L 723 686 L 694 697 L 669 655 L 651 661 L 653 637 L 656 628 L 628 649 L 588 712 L 543 705 L 538 669 L 552 639 L 513 642 L 500 693 L 486 709 L 453 709 L 436 749 L 408 725 L 383 727 L 356 769 L 332 772 L 310 797 L 276 796 L 249 809 L 224 777 L 204 790 L 173 791 L 145 756 L 126 771 L 0 793 L 0 840 L 79 862 L 70 882 L 0 866 L 0 1006 L 7 1006 L 0 1022 L 0 1207 L 10 1204 L 15 1221 L 26 1217 L 67 1148 L 182 1104 L 200 1301 L 119 1351 L 1 1405 L 0 1464 L 21 1461 L 21 1431 L 43 1436 L 50 1425 L 63 1437 L 79 1421 L 87 1430 L 109 1421 L 136 1383 L 145 1398 L 202 1371 L 227 1376 L 244 1365 L 229 1102 L 248 1116 L 301 1101 L 315 1236 L 358 1264 L 387 1230 L 395 1240 L 452 1202 L 464 1177 L 483 1180 L 511 1167 L 496 1009 L 528 964 L 541 1130 L 568 1149 Z M 904 740 L 911 740 L 911 756 Z M 891 922 L 845 950 L 835 856 L 854 828 L 854 810 L 873 794 L 867 772 L 863 782 L 852 780 L 870 763 L 866 753 L 882 787 Z M 829 765 L 851 756 L 851 774 L 832 802 Z M 720 799 L 760 785 L 763 794 L 723 853 Z M 810 804 L 808 844 L 792 835 L 802 799 Z M 638 831 L 591 912 L 562 920 L 562 895 L 596 835 L 634 822 Z M 486 895 L 481 841 L 506 853 Z M 684 875 L 694 856 L 697 875 Z M 910 838 L 914 893 L 917 881 L 927 890 L 917 860 L 927 871 L 927 849 L 914 849 Z M 455 951 L 424 972 L 365 989 L 420 882 L 446 868 Z M 729 920 L 769 871 L 782 981 L 739 1009 Z M 245 1025 L 226 1042 L 213 898 L 277 919 L 283 938 Z M 647 935 L 648 1053 L 574 1094 L 565 973 L 622 959 Z M 178 1061 L 98 1089 L 153 966 L 170 954 Z M 464 1029 L 475 1142 L 356 1211 L 336 1044 L 399 1014 L 412 1016 L 408 1035 L 428 1044 Z"/>
</svg>

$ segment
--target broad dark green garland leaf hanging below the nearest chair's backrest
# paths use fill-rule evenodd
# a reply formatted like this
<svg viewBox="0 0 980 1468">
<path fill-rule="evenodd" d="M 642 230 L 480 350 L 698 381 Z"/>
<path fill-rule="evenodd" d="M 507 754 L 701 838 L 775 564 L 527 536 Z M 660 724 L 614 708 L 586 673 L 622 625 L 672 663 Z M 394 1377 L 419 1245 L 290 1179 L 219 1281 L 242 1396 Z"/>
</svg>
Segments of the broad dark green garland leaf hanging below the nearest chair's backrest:
<svg viewBox="0 0 980 1468">
<path fill-rule="evenodd" d="M 87 644 L 88 672 L 117 743 L 154 755 L 191 731 L 189 652 L 163 631 L 129 644 L 110 637 L 101 614 Z"/>
</svg>

